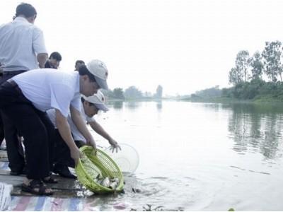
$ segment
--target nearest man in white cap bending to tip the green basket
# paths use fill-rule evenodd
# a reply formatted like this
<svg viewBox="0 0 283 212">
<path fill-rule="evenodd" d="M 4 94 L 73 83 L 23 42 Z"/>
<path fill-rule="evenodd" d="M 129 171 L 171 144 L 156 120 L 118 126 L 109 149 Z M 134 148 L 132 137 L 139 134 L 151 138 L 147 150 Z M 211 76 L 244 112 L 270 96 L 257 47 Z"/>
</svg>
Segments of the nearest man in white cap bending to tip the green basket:
<svg viewBox="0 0 283 212">
<path fill-rule="evenodd" d="M 47 117 L 47 110 L 55 109 L 59 134 L 67 143 L 75 163 L 81 153 L 71 136 L 67 122 L 69 111 L 86 143 L 96 148 L 96 142 L 81 117 L 80 97 L 81 94 L 93 95 L 100 88 L 108 89 L 107 77 L 105 64 L 92 60 L 86 66 L 81 66 L 79 72 L 35 69 L 1 84 L 0 109 L 25 139 L 27 179 L 22 184 L 23 192 L 53 194 L 52 189 L 47 189 L 43 183 L 54 182 L 50 177 L 52 158 L 49 155 L 52 151 L 54 126 Z"/>
</svg>

